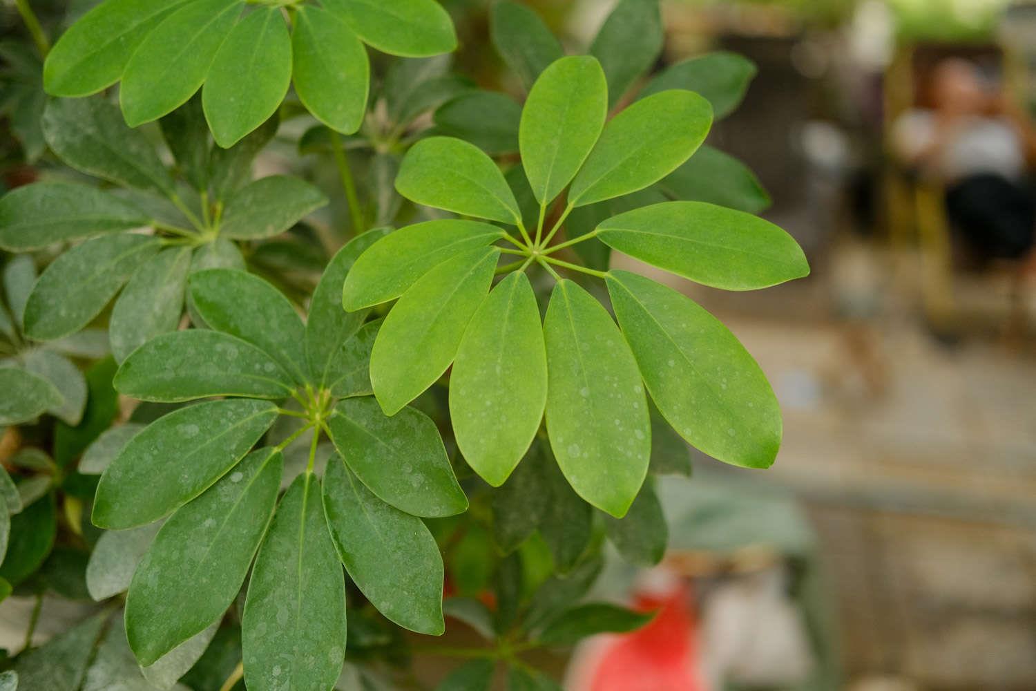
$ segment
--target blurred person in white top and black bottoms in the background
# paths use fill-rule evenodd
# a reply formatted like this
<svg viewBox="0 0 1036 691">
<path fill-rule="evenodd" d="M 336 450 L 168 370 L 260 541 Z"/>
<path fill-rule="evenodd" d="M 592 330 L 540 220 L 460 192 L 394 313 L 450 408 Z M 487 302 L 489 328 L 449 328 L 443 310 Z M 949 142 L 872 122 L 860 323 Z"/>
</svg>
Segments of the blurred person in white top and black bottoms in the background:
<svg viewBox="0 0 1036 691">
<path fill-rule="evenodd" d="M 984 83 L 969 60 L 941 62 L 930 82 L 931 109 L 896 121 L 896 153 L 920 174 L 946 184 L 953 226 L 983 259 L 1032 254 L 1036 198 L 1029 173 L 1036 131 L 1000 89 Z"/>
</svg>

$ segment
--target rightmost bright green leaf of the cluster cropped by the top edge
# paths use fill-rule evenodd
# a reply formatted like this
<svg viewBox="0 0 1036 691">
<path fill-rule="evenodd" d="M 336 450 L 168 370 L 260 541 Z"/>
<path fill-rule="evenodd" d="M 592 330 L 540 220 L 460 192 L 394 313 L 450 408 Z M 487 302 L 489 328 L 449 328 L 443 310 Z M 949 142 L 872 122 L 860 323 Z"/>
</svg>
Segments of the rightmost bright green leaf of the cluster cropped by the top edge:
<svg viewBox="0 0 1036 691">
<path fill-rule="evenodd" d="M 457 48 L 453 21 L 435 0 L 327 0 L 324 5 L 382 53 L 421 58 Z"/>
</svg>

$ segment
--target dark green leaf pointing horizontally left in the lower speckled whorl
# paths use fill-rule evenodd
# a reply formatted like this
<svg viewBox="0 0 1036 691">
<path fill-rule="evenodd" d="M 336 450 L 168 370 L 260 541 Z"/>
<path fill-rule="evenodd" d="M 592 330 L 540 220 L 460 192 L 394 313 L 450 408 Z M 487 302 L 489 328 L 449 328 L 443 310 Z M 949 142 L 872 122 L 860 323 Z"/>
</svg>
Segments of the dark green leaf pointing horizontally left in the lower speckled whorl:
<svg viewBox="0 0 1036 691">
<path fill-rule="evenodd" d="M 124 396 L 162 403 L 209 396 L 277 400 L 294 387 L 272 356 L 248 341 L 204 328 L 151 339 L 122 363 L 114 383 Z"/>
</svg>

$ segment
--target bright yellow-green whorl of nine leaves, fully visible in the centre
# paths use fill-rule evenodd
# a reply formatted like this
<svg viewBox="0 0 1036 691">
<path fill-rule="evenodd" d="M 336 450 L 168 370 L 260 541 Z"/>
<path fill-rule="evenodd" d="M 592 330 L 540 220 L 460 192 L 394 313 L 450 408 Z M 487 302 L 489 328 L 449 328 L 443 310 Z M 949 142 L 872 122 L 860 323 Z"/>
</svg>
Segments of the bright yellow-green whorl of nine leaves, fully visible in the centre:
<svg viewBox="0 0 1036 691">
<path fill-rule="evenodd" d="M 574 209 L 651 185 L 687 161 L 713 117 L 709 102 L 680 89 L 642 98 L 606 123 L 608 103 L 593 57 L 563 57 L 537 79 L 519 133 L 521 163 L 539 203 L 533 229 L 484 152 L 444 137 L 416 144 L 396 181 L 404 197 L 517 230 L 468 220 L 403 228 L 361 255 L 345 281 L 343 305 L 355 311 L 398 298 L 371 354 L 373 392 L 386 414 L 453 365 L 457 444 L 486 482 L 499 486 L 508 479 L 545 418 L 572 488 L 623 517 L 648 472 L 645 388 L 687 441 L 746 467 L 773 463 L 780 411 L 756 363 L 690 298 L 637 273 L 588 268 L 560 253 L 598 238 L 728 290 L 772 286 L 806 276 L 809 267 L 783 230 L 704 202 L 654 204 L 552 243 Z M 501 255 L 515 259 L 499 265 Z M 556 281 L 542 324 L 525 276 L 533 265 Z M 618 325 L 559 270 L 603 279 Z"/>
</svg>

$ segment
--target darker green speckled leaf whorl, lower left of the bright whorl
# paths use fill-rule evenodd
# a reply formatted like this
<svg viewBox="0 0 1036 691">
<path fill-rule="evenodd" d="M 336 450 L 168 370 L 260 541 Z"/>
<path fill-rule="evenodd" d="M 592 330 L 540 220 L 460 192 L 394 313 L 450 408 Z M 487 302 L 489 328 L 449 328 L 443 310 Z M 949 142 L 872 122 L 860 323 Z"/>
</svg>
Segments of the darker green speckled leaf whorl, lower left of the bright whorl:
<svg viewBox="0 0 1036 691">
<path fill-rule="evenodd" d="M 340 305 L 352 262 L 383 234 L 369 231 L 335 256 L 305 323 L 258 277 L 194 273 L 189 290 L 210 328 L 152 339 L 116 373 L 116 390 L 143 401 L 219 397 L 136 433 L 97 485 L 97 526 L 169 516 L 128 586 L 126 635 L 141 665 L 219 622 L 250 567 L 241 640 L 253 691 L 335 684 L 346 644 L 343 564 L 386 617 L 443 632 L 442 557 L 420 517 L 462 513 L 467 499 L 435 424 L 413 408 L 388 418 L 371 396 L 380 321 Z M 300 426 L 253 450 L 279 415 Z M 306 434 L 306 469 L 284 479 L 278 501 L 283 451 Z M 322 482 L 321 435 L 338 451 Z"/>
</svg>

